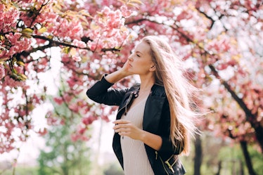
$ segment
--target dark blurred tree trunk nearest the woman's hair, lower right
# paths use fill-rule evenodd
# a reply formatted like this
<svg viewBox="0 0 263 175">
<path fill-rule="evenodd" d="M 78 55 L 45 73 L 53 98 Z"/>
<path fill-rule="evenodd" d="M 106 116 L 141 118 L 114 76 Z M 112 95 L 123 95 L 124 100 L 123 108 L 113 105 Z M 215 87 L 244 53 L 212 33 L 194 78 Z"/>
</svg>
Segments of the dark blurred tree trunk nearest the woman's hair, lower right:
<svg viewBox="0 0 263 175">
<path fill-rule="evenodd" d="M 200 168 L 203 160 L 203 152 L 202 152 L 202 141 L 200 135 L 197 134 L 195 140 L 195 157 L 194 157 L 194 173 L 193 175 L 200 175 Z"/>
</svg>

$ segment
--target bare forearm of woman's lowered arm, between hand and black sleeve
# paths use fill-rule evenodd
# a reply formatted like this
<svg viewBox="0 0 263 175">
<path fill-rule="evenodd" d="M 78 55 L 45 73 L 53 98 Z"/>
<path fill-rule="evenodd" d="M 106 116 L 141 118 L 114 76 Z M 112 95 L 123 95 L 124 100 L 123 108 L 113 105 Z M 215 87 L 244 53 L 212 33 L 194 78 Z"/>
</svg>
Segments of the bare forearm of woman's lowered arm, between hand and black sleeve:
<svg viewBox="0 0 263 175">
<path fill-rule="evenodd" d="M 153 148 L 154 150 L 160 150 L 162 146 L 162 138 L 148 131 L 143 131 L 140 141 L 150 146 L 150 148 Z"/>
</svg>

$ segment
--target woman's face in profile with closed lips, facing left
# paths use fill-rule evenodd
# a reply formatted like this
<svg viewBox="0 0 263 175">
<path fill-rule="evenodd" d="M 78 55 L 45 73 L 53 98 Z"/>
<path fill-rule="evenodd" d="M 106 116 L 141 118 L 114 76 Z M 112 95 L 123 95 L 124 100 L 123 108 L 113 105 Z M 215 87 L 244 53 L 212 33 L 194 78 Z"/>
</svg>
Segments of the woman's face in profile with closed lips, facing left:
<svg viewBox="0 0 263 175">
<path fill-rule="evenodd" d="M 128 58 L 129 71 L 133 74 L 148 74 L 153 71 L 153 61 L 150 56 L 150 46 L 145 41 L 141 41 L 134 52 Z"/>
</svg>

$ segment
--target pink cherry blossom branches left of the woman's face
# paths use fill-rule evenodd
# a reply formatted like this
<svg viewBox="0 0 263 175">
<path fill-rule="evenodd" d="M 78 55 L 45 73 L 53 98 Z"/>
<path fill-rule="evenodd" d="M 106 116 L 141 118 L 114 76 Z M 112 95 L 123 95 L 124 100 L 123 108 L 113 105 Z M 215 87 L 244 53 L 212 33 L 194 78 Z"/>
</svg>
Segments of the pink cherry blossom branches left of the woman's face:
<svg viewBox="0 0 263 175">
<path fill-rule="evenodd" d="M 118 2 L 120 9 L 117 10 L 103 4 L 1 1 L 0 153 L 13 150 L 17 141 L 25 141 L 28 131 L 34 130 L 32 111 L 46 101 L 49 90 L 39 77 L 42 72 L 51 70 L 51 48 L 54 46 L 61 51 L 60 65 L 57 65 L 60 75 L 56 81 L 68 84 L 65 89 L 59 89 L 60 96 L 55 97 L 55 101 L 66 103 L 72 112 L 82 116 L 84 126 L 96 119 L 96 109 L 84 98 L 75 97 L 98 79 L 101 72 L 110 71 L 108 63 L 117 65 L 119 60 L 113 60 L 118 54 L 115 52 L 129 40 L 129 30 L 124 25 L 124 18 L 131 15 L 127 5 L 135 6 L 136 1 Z M 103 119 L 108 119 L 100 113 Z M 53 112 L 46 114 L 49 121 L 56 121 L 52 116 Z M 78 129 L 79 133 L 84 129 Z M 45 133 L 46 129 L 39 130 L 39 134 Z M 78 134 L 75 139 L 77 137 Z"/>
</svg>

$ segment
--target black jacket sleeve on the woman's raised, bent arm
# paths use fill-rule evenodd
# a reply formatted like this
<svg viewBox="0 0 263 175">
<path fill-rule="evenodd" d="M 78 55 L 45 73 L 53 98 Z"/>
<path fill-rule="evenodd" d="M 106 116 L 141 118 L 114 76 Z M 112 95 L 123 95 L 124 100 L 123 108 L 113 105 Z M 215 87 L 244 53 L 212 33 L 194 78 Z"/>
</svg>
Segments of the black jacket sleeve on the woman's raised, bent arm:
<svg viewBox="0 0 263 175">
<path fill-rule="evenodd" d="M 101 80 L 96 82 L 86 91 L 86 96 L 97 103 L 103 103 L 105 105 L 120 105 L 127 90 L 110 89 L 113 84 L 108 82 L 105 79 L 105 76 L 107 76 L 107 74 L 104 74 Z"/>
</svg>

